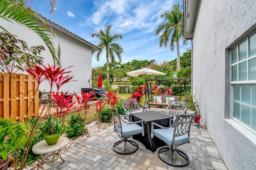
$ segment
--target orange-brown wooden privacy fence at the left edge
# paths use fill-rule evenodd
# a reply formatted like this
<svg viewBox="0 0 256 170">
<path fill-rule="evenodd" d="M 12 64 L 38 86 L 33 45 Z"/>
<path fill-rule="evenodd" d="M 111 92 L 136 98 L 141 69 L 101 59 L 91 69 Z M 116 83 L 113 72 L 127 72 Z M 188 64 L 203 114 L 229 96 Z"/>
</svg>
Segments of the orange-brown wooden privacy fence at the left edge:
<svg viewBox="0 0 256 170">
<path fill-rule="evenodd" d="M 36 92 L 37 90 L 37 92 Z M 38 117 L 38 82 L 31 74 L 0 72 L 0 117 L 22 121 Z"/>
</svg>

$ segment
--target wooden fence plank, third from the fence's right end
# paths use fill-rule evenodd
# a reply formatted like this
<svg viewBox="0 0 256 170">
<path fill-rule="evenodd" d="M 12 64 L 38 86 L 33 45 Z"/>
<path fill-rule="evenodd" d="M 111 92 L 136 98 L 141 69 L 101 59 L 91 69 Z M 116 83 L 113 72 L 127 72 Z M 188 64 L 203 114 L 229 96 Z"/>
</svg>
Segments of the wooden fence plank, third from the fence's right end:
<svg viewBox="0 0 256 170">
<path fill-rule="evenodd" d="M 20 116 L 19 120 L 22 121 L 24 120 L 24 115 L 26 114 L 25 110 L 25 102 L 24 102 L 24 96 L 25 96 L 25 78 L 24 74 L 20 74 Z"/>
</svg>

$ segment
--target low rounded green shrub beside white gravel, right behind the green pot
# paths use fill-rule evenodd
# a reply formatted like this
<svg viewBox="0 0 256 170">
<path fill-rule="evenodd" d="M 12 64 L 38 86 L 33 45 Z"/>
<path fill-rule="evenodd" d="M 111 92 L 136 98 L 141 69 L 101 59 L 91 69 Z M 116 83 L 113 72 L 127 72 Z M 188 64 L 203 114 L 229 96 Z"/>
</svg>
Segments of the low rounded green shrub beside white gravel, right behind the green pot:
<svg viewBox="0 0 256 170">
<path fill-rule="evenodd" d="M 65 133 L 68 137 L 72 137 L 73 139 L 81 136 L 83 133 L 83 118 L 80 116 L 78 121 L 78 115 L 72 114 L 70 120 L 68 121 L 68 125 L 65 129 Z M 86 134 L 86 133 L 85 133 Z"/>
</svg>

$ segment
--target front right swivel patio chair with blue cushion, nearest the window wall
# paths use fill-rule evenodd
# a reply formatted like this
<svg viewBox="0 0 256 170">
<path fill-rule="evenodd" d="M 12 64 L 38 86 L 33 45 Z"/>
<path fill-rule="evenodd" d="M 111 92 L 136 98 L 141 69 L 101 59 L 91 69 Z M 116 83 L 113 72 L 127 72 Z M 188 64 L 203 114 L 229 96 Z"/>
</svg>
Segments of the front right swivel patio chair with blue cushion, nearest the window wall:
<svg viewBox="0 0 256 170">
<path fill-rule="evenodd" d="M 158 150 L 158 157 L 164 163 L 175 167 L 183 167 L 189 164 L 187 154 L 177 149 L 177 147 L 190 142 L 190 127 L 196 113 L 197 111 L 192 114 L 177 115 L 170 127 L 162 127 L 152 122 L 151 138 L 158 137 L 168 145 Z M 159 129 L 154 129 L 154 127 Z"/>
</svg>

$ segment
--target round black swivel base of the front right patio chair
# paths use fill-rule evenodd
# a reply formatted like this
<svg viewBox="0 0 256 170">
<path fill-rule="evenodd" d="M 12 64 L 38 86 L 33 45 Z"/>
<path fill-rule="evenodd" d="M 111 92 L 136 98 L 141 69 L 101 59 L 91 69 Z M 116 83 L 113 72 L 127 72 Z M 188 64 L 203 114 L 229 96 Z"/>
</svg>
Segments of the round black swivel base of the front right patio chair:
<svg viewBox="0 0 256 170">
<path fill-rule="evenodd" d="M 184 152 L 172 148 L 170 150 L 169 147 L 160 148 L 158 150 L 158 158 L 164 163 L 175 167 L 184 167 L 189 164 L 189 158 Z"/>
</svg>

